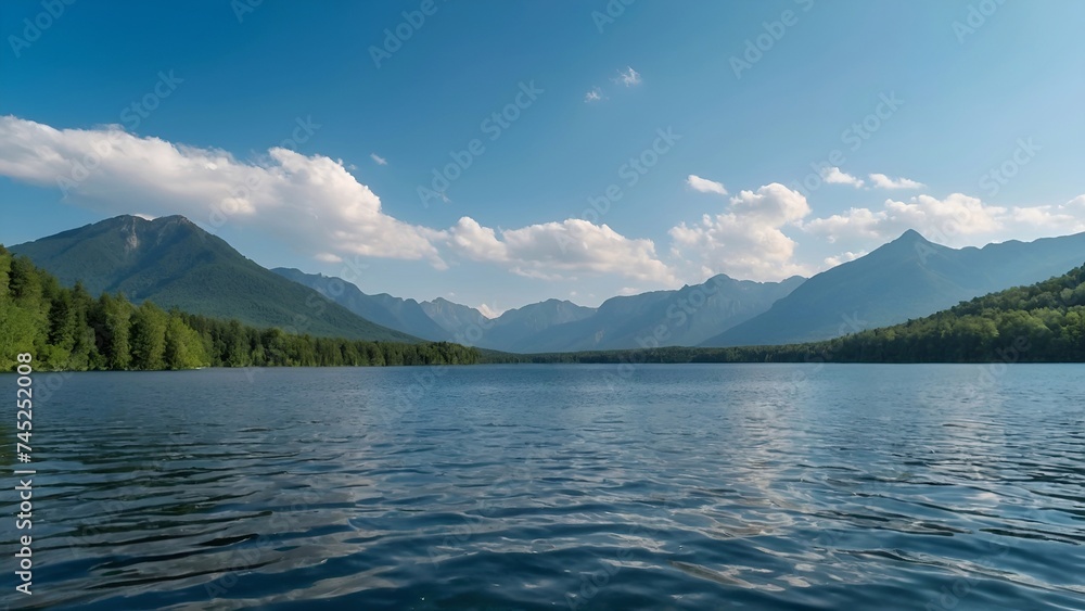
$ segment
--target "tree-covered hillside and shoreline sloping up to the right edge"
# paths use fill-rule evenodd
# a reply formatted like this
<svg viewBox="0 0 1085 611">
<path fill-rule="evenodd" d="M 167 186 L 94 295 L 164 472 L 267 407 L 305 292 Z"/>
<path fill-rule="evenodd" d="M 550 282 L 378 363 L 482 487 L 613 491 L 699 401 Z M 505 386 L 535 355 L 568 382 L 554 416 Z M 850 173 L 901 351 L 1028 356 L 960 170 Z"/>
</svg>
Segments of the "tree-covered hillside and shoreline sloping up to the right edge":
<svg viewBox="0 0 1085 611">
<path fill-rule="evenodd" d="M 902 324 L 806 344 L 508 355 L 488 362 L 1085 362 L 1085 267 Z"/>
</svg>

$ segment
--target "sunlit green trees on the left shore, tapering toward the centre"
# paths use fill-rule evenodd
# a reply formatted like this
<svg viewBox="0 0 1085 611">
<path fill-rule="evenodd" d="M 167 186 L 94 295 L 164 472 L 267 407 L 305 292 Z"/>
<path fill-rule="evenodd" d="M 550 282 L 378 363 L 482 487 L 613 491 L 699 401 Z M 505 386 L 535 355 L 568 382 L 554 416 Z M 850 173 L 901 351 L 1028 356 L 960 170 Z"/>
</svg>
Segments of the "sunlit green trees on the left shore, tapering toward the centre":
<svg viewBox="0 0 1085 611">
<path fill-rule="evenodd" d="M 0 371 L 18 353 L 36 368 L 156 370 L 195 367 L 458 365 L 478 352 L 450 343 L 388 343 L 311 338 L 256 329 L 123 295 L 95 297 L 61 283 L 0 246 Z"/>
</svg>

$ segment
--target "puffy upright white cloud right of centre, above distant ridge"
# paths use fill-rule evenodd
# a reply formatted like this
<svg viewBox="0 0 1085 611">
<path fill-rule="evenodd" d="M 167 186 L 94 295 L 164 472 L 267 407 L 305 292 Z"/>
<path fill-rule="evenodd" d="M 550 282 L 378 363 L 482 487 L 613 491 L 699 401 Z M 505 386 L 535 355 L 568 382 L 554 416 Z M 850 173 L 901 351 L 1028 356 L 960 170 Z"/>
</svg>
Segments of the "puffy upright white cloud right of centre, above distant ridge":
<svg viewBox="0 0 1085 611">
<path fill-rule="evenodd" d="M 699 258 L 701 275 L 725 272 L 752 280 L 778 280 L 807 273 L 794 262 L 795 241 L 781 230 L 810 213 L 806 198 L 779 183 L 731 198 L 729 211 L 704 215 L 700 224 L 671 229 L 673 252 Z"/>
</svg>

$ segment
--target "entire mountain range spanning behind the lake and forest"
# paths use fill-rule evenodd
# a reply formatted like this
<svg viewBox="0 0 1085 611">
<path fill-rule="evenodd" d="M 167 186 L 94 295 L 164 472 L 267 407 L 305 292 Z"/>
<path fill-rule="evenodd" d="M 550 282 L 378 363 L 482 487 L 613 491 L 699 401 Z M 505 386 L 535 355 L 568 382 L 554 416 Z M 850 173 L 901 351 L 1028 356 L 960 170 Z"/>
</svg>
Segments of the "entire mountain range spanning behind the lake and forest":
<svg viewBox="0 0 1085 611">
<path fill-rule="evenodd" d="M 194 314 L 375 341 L 449 341 L 515 353 L 817 341 L 921 318 L 1085 259 L 1085 233 L 950 249 L 907 231 L 809 279 L 715 276 L 599 307 L 547 300 L 487 318 L 437 297 L 370 295 L 340 278 L 268 270 L 180 216 L 120 216 L 11 247 L 65 284 Z"/>
</svg>

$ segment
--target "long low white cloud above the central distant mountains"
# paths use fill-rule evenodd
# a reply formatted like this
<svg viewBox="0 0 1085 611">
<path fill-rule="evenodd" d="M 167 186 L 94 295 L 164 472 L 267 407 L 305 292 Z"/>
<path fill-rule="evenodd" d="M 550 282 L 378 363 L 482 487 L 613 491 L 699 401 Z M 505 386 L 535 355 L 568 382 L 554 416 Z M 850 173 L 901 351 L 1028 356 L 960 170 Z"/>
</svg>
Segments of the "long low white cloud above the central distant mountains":
<svg viewBox="0 0 1085 611">
<path fill-rule="evenodd" d="M 605 225 L 571 218 L 498 231 L 463 217 L 447 232 L 452 251 L 477 262 L 502 264 L 513 273 L 556 280 L 563 273 L 614 273 L 673 283 L 651 240 L 626 238 Z"/>
</svg>

